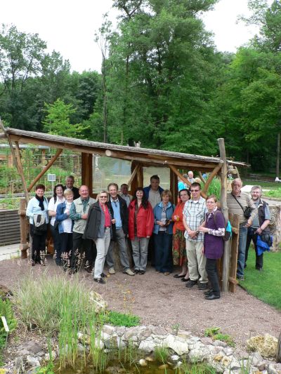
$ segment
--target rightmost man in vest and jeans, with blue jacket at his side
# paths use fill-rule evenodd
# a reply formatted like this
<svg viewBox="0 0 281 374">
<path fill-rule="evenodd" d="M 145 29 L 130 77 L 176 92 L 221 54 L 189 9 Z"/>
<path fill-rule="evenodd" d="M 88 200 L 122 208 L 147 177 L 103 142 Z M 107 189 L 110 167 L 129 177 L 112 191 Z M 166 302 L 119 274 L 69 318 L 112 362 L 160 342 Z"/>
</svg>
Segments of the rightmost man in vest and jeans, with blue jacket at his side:
<svg viewBox="0 0 281 374">
<path fill-rule="evenodd" d="M 261 199 L 262 189 L 261 186 L 253 186 L 251 187 L 251 199 L 254 201 L 256 208 L 258 209 L 258 214 L 253 220 L 253 223 L 248 228 L 247 232 L 247 243 L 246 243 L 246 251 L 245 251 L 245 265 L 244 268 L 247 266 L 247 258 L 248 258 L 248 251 L 251 240 L 254 243 L 254 248 L 256 252 L 256 270 L 263 269 L 263 253 L 258 255 L 257 247 L 256 247 L 256 239 L 258 235 L 261 234 L 269 234 L 270 230 L 268 225 L 270 223 L 270 210 L 268 208 L 268 203 Z"/>
</svg>

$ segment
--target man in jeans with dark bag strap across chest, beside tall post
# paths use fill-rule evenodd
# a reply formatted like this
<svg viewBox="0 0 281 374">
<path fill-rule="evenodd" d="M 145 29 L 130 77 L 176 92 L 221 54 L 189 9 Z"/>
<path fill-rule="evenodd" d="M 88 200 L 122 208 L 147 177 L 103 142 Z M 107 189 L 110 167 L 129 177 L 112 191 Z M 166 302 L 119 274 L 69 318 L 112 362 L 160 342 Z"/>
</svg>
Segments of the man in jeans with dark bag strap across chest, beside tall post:
<svg viewBox="0 0 281 374">
<path fill-rule="evenodd" d="M 238 258 L 237 258 L 237 279 L 244 281 L 244 263 L 245 251 L 247 242 L 247 229 L 251 226 L 258 209 L 254 202 L 250 199 L 246 192 L 241 191 L 242 180 L 235 178 L 231 183 L 232 192 L 226 196 L 226 203 L 228 205 L 228 213 L 239 215 L 239 243 L 238 243 Z M 251 208 L 250 218 L 245 218 L 244 211 Z"/>
</svg>

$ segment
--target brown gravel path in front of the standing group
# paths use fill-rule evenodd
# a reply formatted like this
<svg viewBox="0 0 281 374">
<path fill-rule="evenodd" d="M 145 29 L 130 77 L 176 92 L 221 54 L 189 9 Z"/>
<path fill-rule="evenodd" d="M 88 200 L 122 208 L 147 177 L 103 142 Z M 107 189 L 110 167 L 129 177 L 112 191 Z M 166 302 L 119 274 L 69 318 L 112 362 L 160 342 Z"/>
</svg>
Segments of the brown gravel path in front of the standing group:
<svg viewBox="0 0 281 374">
<path fill-rule="evenodd" d="M 52 276 L 61 269 L 48 258 L 46 268 L 31 268 L 27 260 L 0 262 L 0 283 L 15 288 L 25 274 L 40 276 L 42 270 Z M 175 273 L 174 273 L 175 274 Z M 71 280 L 71 276 L 65 274 Z M 238 345 L 254 335 L 269 333 L 276 338 L 281 332 L 281 313 L 248 295 L 242 288 L 223 294 L 220 300 L 204 300 L 197 287 L 188 289 L 181 279 L 172 275 L 156 274 L 149 268 L 145 275 L 127 276 L 117 273 L 107 278 L 107 284 L 93 283 L 91 274 L 79 272 L 85 286 L 93 288 L 107 300 L 109 308 L 119 312 L 132 312 L 141 316 L 141 323 L 170 327 L 179 324 L 181 329 L 203 335 L 211 326 L 233 336 Z"/>
</svg>

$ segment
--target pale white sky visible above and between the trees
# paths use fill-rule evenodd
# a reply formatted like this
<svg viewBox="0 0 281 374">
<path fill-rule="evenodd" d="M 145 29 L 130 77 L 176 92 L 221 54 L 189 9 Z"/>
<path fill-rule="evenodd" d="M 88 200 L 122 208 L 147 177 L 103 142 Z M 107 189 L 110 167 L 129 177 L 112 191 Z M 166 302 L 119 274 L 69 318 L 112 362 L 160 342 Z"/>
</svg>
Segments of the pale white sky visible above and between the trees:
<svg viewBox="0 0 281 374">
<path fill-rule="evenodd" d="M 1 1 L 0 23 L 13 24 L 19 31 L 39 34 L 48 51 L 70 60 L 72 70 L 100 72 L 101 53 L 94 42 L 103 14 L 117 13 L 112 0 L 13 0 Z M 256 30 L 237 25 L 238 15 L 249 15 L 247 0 L 221 0 L 214 11 L 204 15 L 207 29 L 214 32 L 219 51 L 235 52 L 254 36 Z"/>
</svg>

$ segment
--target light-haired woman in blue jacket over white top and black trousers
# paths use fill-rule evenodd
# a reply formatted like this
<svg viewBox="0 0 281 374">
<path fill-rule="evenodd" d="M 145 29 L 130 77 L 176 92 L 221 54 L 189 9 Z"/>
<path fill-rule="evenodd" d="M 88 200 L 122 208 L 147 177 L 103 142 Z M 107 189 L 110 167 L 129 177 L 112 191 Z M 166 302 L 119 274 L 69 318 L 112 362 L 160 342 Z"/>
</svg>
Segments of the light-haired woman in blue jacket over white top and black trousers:
<svg viewBox="0 0 281 374">
<path fill-rule="evenodd" d="M 74 198 L 74 192 L 72 189 L 65 189 L 63 193 L 65 201 L 58 204 L 57 213 L 55 215 L 55 222 L 58 224 L 58 233 L 60 236 L 60 251 L 61 260 L 63 262 L 63 271 L 66 272 L 67 268 L 70 267 L 70 259 L 72 253 L 72 229 L 73 221 L 70 218 L 70 207 Z"/>
</svg>

